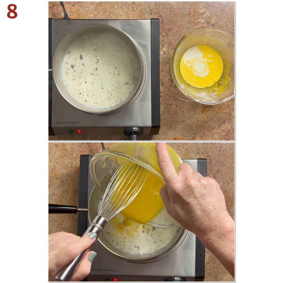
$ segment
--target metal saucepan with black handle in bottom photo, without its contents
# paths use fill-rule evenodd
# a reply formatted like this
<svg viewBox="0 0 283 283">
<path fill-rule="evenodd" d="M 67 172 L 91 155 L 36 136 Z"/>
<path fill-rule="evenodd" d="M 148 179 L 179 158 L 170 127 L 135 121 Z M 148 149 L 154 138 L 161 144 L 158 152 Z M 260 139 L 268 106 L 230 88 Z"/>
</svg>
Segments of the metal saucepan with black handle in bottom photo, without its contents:
<svg viewBox="0 0 283 283">
<path fill-rule="evenodd" d="M 103 183 L 102 180 L 101 183 Z M 92 220 L 95 218 L 95 216 L 97 216 L 97 212 L 101 200 L 102 200 L 102 195 L 99 192 L 99 190 L 96 188 L 96 186 L 94 186 L 89 198 L 88 209 L 80 209 L 74 206 L 67 206 L 67 205 L 49 204 L 49 213 L 76 213 L 77 211 L 86 211 L 86 212 L 88 211 L 88 221 L 90 224 Z M 176 233 L 175 237 L 171 240 L 171 242 L 167 246 L 158 250 L 155 253 L 148 255 L 133 255 L 123 252 L 115 248 L 112 244 L 110 244 L 109 241 L 104 237 L 103 233 L 99 236 L 98 241 L 107 250 L 109 250 L 110 252 L 112 252 L 113 254 L 124 260 L 137 262 L 137 263 L 153 262 L 170 255 L 179 247 L 179 245 L 181 245 L 181 243 L 186 237 L 187 230 L 185 230 L 182 227 L 176 229 L 178 229 L 178 233 Z"/>
</svg>

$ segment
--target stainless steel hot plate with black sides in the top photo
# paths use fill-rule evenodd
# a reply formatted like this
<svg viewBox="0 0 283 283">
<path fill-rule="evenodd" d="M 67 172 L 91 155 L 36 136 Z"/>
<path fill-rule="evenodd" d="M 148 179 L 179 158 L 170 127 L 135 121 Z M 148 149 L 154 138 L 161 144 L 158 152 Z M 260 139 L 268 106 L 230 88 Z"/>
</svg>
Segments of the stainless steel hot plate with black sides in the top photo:
<svg viewBox="0 0 283 283">
<path fill-rule="evenodd" d="M 75 108 L 62 97 L 52 77 L 53 56 L 60 42 L 75 29 L 91 24 L 120 29 L 138 44 L 145 59 L 146 78 L 140 95 L 111 115 L 93 115 Z M 156 135 L 159 128 L 159 19 L 49 19 L 49 135 L 125 133 L 134 140 L 141 134 Z"/>
</svg>

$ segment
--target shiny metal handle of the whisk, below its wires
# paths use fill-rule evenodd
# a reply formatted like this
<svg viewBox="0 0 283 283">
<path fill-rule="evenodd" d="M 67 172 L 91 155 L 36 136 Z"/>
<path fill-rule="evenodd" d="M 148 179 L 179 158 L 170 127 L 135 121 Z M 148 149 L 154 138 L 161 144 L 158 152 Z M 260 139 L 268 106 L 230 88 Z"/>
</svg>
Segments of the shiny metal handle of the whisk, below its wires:
<svg viewBox="0 0 283 283">
<path fill-rule="evenodd" d="M 85 231 L 85 233 L 83 234 L 83 236 L 87 233 L 90 232 L 95 232 L 97 237 L 99 237 L 99 235 L 101 234 L 104 226 L 106 225 L 107 220 L 103 217 L 100 216 L 96 216 L 96 218 L 93 220 L 93 222 L 91 223 L 91 225 L 89 226 L 89 228 L 87 228 L 87 230 Z M 85 254 L 89 251 L 89 248 L 87 248 L 86 250 L 84 250 L 83 252 L 81 252 L 80 254 L 78 254 L 76 256 L 76 258 L 66 267 L 63 267 L 63 269 L 61 269 L 56 275 L 55 278 L 59 281 L 69 281 L 73 274 L 75 273 L 75 271 L 77 270 L 77 268 L 79 267 L 80 263 L 82 262 Z"/>
</svg>

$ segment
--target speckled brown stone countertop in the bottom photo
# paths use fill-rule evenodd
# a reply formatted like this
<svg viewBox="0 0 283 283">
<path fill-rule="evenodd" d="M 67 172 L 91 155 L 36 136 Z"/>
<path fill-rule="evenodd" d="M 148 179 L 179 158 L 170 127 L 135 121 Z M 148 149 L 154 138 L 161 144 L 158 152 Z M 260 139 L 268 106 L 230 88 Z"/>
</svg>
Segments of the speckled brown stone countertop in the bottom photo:
<svg viewBox="0 0 283 283">
<path fill-rule="evenodd" d="M 168 143 L 181 158 L 207 158 L 207 175 L 220 184 L 228 212 L 234 218 L 234 143 Z M 109 143 L 105 143 L 107 147 Z M 81 154 L 102 150 L 100 143 L 49 143 L 49 203 L 77 205 Z M 76 215 L 49 215 L 49 233 L 76 234 Z M 205 281 L 234 281 L 206 250 Z"/>
</svg>

